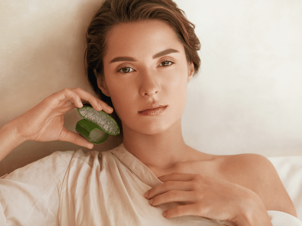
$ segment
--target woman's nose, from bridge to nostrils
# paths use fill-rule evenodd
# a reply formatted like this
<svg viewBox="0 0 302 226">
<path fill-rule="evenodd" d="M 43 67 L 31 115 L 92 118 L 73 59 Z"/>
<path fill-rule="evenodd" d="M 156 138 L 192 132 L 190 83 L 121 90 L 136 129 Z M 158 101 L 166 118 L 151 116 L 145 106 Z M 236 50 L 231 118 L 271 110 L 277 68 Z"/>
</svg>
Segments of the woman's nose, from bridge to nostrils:
<svg viewBox="0 0 302 226">
<path fill-rule="evenodd" d="M 159 78 L 155 73 L 147 72 L 141 74 L 140 94 L 142 96 L 153 96 L 160 91 Z"/>
</svg>

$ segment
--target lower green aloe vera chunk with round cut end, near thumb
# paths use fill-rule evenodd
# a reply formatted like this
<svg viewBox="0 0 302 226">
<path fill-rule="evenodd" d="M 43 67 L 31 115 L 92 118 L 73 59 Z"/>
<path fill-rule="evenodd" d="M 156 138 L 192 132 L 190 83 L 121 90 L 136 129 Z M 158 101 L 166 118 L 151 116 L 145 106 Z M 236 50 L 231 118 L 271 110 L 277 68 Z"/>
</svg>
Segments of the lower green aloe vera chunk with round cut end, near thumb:
<svg viewBox="0 0 302 226">
<path fill-rule="evenodd" d="M 108 133 L 85 119 L 77 122 L 76 131 L 93 144 L 104 143 L 109 137 Z"/>
</svg>

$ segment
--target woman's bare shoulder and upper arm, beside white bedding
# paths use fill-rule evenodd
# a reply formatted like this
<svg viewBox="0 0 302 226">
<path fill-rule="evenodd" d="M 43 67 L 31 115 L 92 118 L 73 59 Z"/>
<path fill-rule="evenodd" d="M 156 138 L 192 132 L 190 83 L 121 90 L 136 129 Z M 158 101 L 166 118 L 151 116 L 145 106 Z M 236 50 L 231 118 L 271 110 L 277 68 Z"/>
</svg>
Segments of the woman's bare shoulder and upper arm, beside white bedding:
<svg viewBox="0 0 302 226">
<path fill-rule="evenodd" d="M 267 210 L 277 210 L 297 216 L 294 205 L 272 163 L 258 154 L 217 155 L 220 179 L 254 191 Z"/>
</svg>

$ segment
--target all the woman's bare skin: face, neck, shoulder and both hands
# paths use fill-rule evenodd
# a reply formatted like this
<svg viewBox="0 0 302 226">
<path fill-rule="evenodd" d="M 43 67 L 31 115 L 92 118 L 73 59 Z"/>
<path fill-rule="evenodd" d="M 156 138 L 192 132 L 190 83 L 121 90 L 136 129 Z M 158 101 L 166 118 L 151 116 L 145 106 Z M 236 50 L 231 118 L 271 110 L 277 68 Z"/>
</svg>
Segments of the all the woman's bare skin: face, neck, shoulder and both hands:
<svg viewBox="0 0 302 226">
<path fill-rule="evenodd" d="M 239 226 L 271 225 L 266 210 L 296 216 L 265 157 L 209 155 L 184 143 L 181 115 L 194 65 L 187 62 L 184 47 L 169 25 L 158 20 L 116 25 L 107 47 L 105 76 L 98 79 L 98 86 L 111 97 L 122 121 L 125 148 L 163 182 L 146 191 L 150 205 L 180 201 L 184 205 L 163 215 L 199 215 Z M 63 115 L 81 107 L 82 100 L 97 111 L 112 112 L 81 88 L 63 89 L 0 129 L 2 159 L 25 140 L 64 140 L 92 148 L 93 144 L 63 126 Z M 154 103 L 167 108 L 158 115 L 138 113 Z"/>
</svg>

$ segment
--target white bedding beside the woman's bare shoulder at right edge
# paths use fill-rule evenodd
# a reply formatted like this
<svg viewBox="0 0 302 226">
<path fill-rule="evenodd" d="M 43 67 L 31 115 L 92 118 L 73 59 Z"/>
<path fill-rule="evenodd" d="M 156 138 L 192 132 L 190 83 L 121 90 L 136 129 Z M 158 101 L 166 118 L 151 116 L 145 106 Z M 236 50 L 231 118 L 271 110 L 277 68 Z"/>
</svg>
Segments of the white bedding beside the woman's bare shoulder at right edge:
<svg viewBox="0 0 302 226">
<path fill-rule="evenodd" d="M 297 211 L 297 217 L 302 220 L 302 156 L 268 157 L 275 166 Z"/>
</svg>

